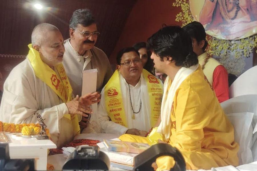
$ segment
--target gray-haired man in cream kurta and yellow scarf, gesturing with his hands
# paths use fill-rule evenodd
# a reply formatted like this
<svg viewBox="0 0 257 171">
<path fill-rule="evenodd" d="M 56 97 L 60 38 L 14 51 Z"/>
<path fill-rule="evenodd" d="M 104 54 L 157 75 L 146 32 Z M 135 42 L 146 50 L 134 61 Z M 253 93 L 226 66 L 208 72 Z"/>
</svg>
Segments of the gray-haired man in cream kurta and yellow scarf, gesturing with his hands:
<svg viewBox="0 0 257 171">
<path fill-rule="evenodd" d="M 72 88 L 61 63 L 63 36 L 57 27 L 37 25 L 31 42 L 27 58 L 5 81 L 0 121 L 37 123 L 37 112 L 45 119 L 52 141 L 60 147 L 80 133 L 78 117 L 87 116 L 89 105 L 100 95 L 92 93 L 72 100 Z"/>
</svg>

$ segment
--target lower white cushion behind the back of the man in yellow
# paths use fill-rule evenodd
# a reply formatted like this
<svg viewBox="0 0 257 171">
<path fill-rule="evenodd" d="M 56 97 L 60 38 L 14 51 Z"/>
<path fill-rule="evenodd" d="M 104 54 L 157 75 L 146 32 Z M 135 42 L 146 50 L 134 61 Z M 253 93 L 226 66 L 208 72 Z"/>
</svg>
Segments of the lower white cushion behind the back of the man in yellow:
<svg viewBox="0 0 257 171">
<path fill-rule="evenodd" d="M 234 97 L 221 103 L 221 107 L 234 126 L 235 141 L 240 145 L 238 152 L 239 164 L 256 161 L 257 95 Z"/>
</svg>

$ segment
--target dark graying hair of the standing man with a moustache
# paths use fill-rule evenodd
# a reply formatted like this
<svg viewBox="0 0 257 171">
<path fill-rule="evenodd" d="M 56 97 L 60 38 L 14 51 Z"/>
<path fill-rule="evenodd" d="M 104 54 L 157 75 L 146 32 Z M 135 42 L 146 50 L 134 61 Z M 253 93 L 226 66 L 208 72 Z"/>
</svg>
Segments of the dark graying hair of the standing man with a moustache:
<svg viewBox="0 0 257 171">
<path fill-rule="evenodd" d="M 78 24 L 87 27 L 93 23 L 95 23 L 95 19 L 89 9 L 77 9 L 73 12 L 69 27 L 75 29 L 77 28 Z"/>
</svg>

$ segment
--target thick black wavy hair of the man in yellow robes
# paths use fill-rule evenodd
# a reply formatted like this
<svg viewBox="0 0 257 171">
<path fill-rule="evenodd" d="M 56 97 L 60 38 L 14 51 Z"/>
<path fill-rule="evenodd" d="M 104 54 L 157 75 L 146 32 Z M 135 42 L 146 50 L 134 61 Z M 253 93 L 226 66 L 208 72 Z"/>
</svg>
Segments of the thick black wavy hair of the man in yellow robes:
<svg viewBox="0 0 257 171">
<path fill-rule="evenodd" d="M 158 30 L 147 40 L 148 49 L 160 57 L 172 57 L 176 66 L 186 68 L 198 64 L 193 52 L 190 36 L 179 26 L 166 26 Z"/>
</svg>

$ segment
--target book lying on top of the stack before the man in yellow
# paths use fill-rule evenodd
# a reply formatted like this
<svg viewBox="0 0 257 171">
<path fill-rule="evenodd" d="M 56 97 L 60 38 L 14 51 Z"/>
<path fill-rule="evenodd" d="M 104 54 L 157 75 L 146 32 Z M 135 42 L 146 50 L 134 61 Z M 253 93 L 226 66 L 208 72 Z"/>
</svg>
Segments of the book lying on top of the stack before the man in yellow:
<svg viewBox="0 0 257 171">
<path fill-rule="evenodd" d="M 104 140 L 109 151 L 140 153 L 150 147 L 146 143 L 133 143 L 125 141 Z"/>
</svg>

